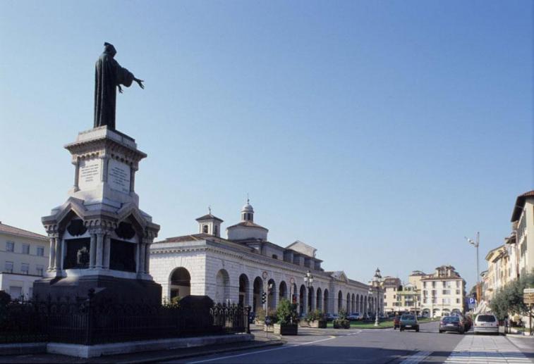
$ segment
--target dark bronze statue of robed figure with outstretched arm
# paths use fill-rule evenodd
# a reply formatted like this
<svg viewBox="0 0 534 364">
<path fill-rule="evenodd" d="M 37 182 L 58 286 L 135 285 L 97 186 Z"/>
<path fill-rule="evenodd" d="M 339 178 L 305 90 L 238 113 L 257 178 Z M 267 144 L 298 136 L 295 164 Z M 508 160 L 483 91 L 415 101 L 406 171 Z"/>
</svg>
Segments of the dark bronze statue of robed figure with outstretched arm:
<svg viewBox="0 0 534 364">
<path fill-rule="evenodd" d="M 95 69 L 95 127 L 107 125 L 112 130 L 115 130 L 117 88 L 122 93 L 121 84 L 130 87 L 133 81 L 145 88 L 142 80 L 115 61 L 116 53 L 113 44 L 104 43 L 104 53 L 98 58 Z"/>
</svg>

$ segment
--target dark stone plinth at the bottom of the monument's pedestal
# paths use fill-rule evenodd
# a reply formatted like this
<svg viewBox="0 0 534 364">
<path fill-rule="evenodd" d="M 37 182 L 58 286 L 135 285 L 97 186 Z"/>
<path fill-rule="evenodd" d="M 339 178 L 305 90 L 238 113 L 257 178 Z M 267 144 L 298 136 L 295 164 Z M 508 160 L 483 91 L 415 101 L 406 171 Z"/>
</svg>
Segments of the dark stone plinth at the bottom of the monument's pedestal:
<svg viewBox="0 0 534 364">
<path fill-rule="evenodd" d="M 131 280 L 106 275 L 44 278 L 33 284 L 33 296 L 37 300 L 75 300 L 87 298 L 90 289 L 95 290 L 93 301 L 116 303 L 162 303 L 162 286 L 149 280 Z"/>
</svg>

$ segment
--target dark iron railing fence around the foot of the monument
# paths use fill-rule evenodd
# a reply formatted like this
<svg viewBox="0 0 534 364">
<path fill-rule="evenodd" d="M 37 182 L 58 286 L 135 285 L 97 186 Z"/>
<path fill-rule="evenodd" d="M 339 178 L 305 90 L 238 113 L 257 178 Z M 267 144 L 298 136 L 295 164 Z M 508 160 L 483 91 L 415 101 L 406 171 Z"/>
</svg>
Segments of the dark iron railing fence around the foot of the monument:
<svg viewBox="0 0 534 364">
<path fill-rule="evenodd" d="M 0 343 L 111 342 L 250 332 L 250 307 L 216 304 L 208 310 L 179 306 L 26 301 L 0 307 Z"/>
</svg>

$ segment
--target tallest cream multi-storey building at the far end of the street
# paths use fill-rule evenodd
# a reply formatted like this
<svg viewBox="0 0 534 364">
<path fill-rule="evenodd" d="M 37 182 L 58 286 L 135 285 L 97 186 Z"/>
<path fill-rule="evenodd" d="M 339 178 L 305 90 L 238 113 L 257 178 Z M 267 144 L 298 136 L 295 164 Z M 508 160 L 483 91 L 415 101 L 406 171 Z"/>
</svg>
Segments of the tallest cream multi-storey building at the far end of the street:
<svg viewBox="0 0 534 364">
<path fill-rule="evenodd" d="M 432 275 L 421 278 L 423 283 L 423 314 L 432 317 L 464 311 L 466 281 L 451 265 L 437 267 Z"/>
</svg>

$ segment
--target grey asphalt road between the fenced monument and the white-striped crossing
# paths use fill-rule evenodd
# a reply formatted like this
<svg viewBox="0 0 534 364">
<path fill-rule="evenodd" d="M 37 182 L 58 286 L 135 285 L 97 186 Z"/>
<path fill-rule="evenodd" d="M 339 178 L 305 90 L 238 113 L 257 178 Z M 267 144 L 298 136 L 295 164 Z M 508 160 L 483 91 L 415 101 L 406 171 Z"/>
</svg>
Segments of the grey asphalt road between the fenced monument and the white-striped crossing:
<svg viewBox="0 0 534 364">
<path fill-rule="evenodd" d="M 399 330 L 300 330 L 284 346 L 202 356 L 169 363 L 443 363 L 463 339 L 438 334 L 437 322 L 420 332 Z"/>
</svg>

